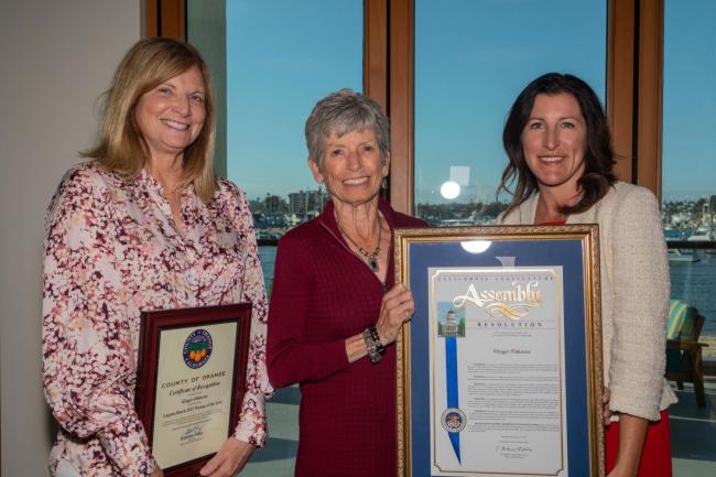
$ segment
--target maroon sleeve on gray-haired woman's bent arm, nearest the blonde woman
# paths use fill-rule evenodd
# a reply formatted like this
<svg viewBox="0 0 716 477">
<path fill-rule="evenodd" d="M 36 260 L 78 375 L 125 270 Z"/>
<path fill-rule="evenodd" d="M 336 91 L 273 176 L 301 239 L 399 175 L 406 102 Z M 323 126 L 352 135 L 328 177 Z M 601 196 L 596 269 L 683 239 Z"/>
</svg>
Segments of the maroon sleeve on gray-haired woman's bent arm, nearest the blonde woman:
<svg viewBox="0 0 716 477">
<path fill-rule="evenodd" d="M 271 383 L 282 388 L 319 381 L 349 366 L 345 338 L 311 340 L 306 332 L 311 297 L 316 293 L 315 268 L 305 260 L 315 242 L 294 235 L 279 242 L 269 308 L 268 366 Z M 322 296 L 330 302 L 332 296 Z"/>
</svg>

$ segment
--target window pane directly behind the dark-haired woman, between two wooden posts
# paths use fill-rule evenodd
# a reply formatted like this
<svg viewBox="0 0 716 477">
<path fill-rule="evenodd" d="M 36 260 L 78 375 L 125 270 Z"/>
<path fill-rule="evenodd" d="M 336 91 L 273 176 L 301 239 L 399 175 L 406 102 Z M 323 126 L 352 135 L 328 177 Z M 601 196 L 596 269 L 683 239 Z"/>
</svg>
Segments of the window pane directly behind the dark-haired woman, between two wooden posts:
<svg viewBox="0 0 716 477">
<path fill-rule="evenodd" d="M 493 221 L 512 101 L 558 72 L 582 77 L 604 102 L 606 52 L 606 1 L 416 0 L 415 215 L 433 225 Z"/>
</svg>

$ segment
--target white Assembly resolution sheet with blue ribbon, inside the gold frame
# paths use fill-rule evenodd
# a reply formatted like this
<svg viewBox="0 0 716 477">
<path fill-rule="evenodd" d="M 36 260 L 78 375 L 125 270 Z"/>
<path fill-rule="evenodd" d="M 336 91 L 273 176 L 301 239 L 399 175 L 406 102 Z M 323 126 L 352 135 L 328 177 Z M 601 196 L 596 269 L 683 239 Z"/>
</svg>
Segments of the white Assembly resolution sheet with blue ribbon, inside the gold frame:
<svg viewBox="0 0 716 477">
<path fill-rule="evenodd" d="M 567 476 L 562 277 L 428 268 L 432 475 Z"/>
</svg>

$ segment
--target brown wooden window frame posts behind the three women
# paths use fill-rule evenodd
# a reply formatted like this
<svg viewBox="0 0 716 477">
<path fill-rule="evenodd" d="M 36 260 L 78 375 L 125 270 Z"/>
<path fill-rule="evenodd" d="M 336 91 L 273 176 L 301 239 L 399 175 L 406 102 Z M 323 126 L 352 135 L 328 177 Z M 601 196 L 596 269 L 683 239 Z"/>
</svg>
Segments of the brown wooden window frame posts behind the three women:
<svg viewBox="0 0 716 477">
<path fill-rule="evenodd" d="M 661 197 L 663 0 L 607 1 L 606 109 L 615 173 Z M 147 0 L 148 36 L 186 37 L 185 0 Z M 390 202 L 414 204 L 414 0 L 364 0 L 364 89 L 392 130 Z"/>
</svg>

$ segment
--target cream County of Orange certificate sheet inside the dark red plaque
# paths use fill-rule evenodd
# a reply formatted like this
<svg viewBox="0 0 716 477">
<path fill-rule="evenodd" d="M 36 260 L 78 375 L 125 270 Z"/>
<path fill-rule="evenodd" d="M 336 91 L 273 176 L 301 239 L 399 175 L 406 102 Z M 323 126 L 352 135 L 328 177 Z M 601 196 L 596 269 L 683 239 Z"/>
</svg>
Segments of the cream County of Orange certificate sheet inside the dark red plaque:
<svg viewBox="0 0 716 477">
<path fill-rule="evenodd" d="M 211 454 L 226 441 L 237 332 L 235 322 L 161 332 L 152 441 L 160 467 Z"/>
</svg>

